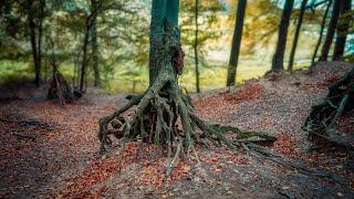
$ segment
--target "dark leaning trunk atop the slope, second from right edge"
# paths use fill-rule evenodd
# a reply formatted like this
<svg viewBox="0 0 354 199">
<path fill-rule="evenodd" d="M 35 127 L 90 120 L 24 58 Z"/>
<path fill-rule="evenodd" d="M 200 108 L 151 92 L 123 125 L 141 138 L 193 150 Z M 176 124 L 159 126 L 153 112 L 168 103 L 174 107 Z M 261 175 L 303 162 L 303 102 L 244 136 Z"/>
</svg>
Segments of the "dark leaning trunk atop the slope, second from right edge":
<svg viewBox="0 0 354 199">
<path fill-rule="evenodd" d="M 341 12 L 341 0 L 334 0 L 332 17 L 331 17 L 331 21 L 327 29 L 327 34 L 322 45 L 320 61 L 327 61 L 329 59 L 329 53 L 330 53 L 330 49 L 334 38 L 335 29 L 339 22 L 340 12 Z"/>
</svg>

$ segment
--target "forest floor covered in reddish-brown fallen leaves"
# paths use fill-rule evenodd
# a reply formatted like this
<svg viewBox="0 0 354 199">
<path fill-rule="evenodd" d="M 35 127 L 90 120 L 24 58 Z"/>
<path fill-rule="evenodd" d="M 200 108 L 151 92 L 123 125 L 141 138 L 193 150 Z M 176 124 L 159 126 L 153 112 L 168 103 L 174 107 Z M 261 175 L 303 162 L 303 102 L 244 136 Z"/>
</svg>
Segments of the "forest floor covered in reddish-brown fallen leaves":
<svg viewBox="0 0 354 199">
<path fill-rule="evenodd" d="M 97 121 L 124 95 L 92 88 L 61 107 L 45 101 L 45 87 L 25 86 L 0 94 L 0 198 L 353 198 L 353 156 L 333 147 L 311 150 L 301 129 L 327 85 L 352 66 L 320 63 L 312 74 L 283 72 L 192 95 L 204 118 L 269 132 L 278 137 L 270 150 L 340 181 L 226 147 L 197 147 L 199 163 L 195 156 L 180 160 L 165 179 L 170 159 L 160 147 L 115 140 L 111 156 L 98 154 Z M 353 133 L 353 113 L 341 122 Z"/>
</svg>

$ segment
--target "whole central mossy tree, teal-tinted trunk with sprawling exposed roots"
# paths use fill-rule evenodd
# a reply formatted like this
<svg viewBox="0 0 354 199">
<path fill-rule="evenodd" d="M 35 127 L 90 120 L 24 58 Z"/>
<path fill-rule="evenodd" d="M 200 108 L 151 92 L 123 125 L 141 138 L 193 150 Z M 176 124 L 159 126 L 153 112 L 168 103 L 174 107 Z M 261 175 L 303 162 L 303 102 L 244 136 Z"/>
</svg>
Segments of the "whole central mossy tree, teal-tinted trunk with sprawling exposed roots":
<svg viewBox="0 0 354 199">
<path fill-rule="evenodd" d="M 153 0 L 150 23 L 149 87 L 143 95 L 129 101 L 113 114 L 100 119 L 101 150 L 108 151 L 111 135 L 118 138 L 140 138 L 167 147 L 168 156 L 175 151 L 189 151 L 195 144 L 254 143 L 249 137 L 274 142 L 264 133 L 243 133 L 236 127 L 221 127 L 200 119 L 190 98 L 177 84 L 184 66 L 178 24 L 179 0 Z M 134 109 L 133 114 L 124 114 Z M 199 128 L 199 130 L 198 130 Z M 230 140 L 225 134 L 233 132 L 239 140 Z M 258 140 L 259 142 L 259 140 Z"/>
</svg>

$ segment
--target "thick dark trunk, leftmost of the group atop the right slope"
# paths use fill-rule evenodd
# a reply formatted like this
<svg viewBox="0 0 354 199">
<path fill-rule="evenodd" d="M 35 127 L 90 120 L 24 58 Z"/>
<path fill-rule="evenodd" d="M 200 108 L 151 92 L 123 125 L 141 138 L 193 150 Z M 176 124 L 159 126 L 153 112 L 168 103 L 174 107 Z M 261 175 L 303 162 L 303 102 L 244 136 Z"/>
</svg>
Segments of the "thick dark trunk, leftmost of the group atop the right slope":
<svg viewBox="0 0 354 199">
<path fill-rule="evenodd" d="M 287 48 L 288 28 L 290 22 L 291 12 L 294 6 L 294 0 L 287 0 L 279 24 L 278 42 L 275 48 L 275 53 L 272 60 L 271 71 L 284 70 L 284 54 Z"/>
</svg>

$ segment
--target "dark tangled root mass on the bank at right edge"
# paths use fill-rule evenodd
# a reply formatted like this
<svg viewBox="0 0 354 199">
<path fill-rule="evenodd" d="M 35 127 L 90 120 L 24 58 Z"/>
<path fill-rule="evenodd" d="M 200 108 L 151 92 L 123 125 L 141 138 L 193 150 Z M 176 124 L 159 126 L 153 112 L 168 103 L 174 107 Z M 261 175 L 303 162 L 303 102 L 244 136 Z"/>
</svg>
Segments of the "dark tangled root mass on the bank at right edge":
<svg viewBox="0 0 354 199">
<path fill-rule="evenodd" d="M 354 108 L 354 69 L 329 87 L 324 102 L 312 107 L 303 129 L 309 132 L 310 140 L 324 140 L 353 151 L 350 140 L 334 134 L 339 118 Z"/>
</svg>

